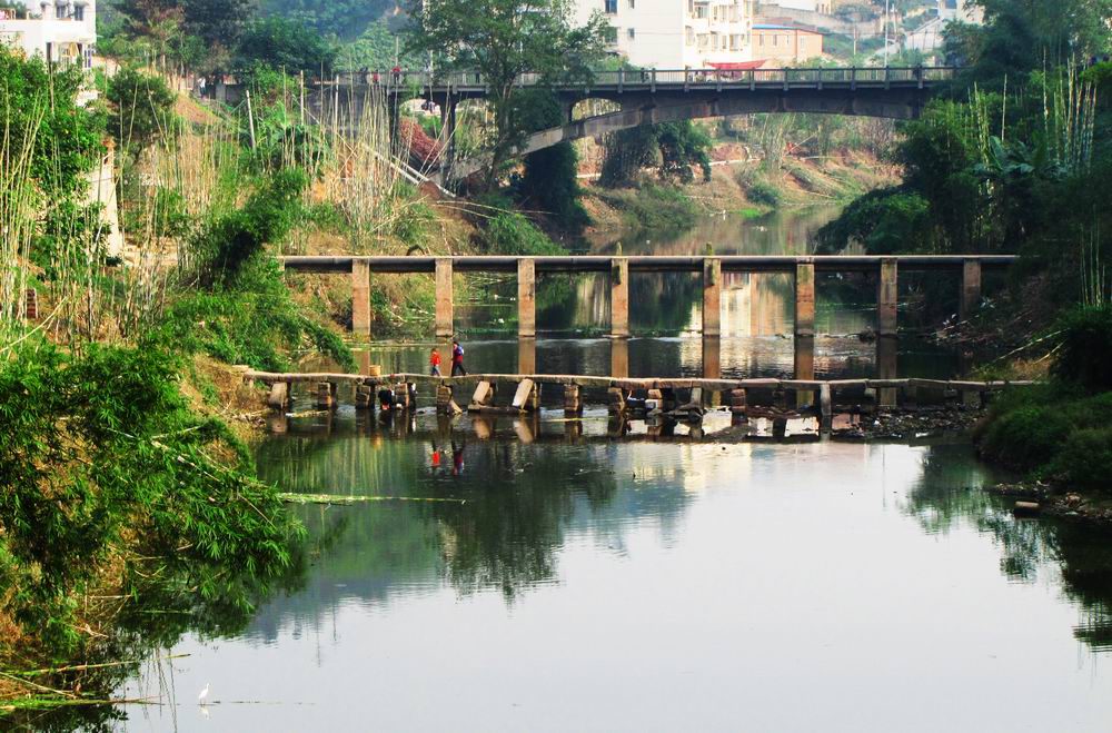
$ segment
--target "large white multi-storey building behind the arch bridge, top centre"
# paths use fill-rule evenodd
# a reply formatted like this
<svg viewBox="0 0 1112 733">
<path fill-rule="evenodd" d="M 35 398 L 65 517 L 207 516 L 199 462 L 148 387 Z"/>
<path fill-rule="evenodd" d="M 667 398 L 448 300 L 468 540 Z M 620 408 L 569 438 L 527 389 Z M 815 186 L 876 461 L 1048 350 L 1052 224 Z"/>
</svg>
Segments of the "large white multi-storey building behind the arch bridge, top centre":
<svg viewBox="0 0 1112 733">
<path fill-rule="evenodd" d="M 596 10 L 610 23 L 613 50 L 634 66 L 708 69 L 753 58 L 752 0 L 577 0 L 577 22 Z"/>
</svg>

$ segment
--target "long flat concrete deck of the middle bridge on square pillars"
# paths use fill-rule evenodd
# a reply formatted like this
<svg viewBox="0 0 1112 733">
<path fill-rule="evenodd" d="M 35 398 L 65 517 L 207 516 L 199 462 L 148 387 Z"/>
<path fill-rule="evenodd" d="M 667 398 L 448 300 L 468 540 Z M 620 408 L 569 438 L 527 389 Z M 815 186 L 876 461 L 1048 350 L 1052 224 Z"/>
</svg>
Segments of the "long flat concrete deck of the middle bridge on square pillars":
<svg viewBox="0 0 1112 733">
<path fill-rule="evenodd" d="M 606 273 L 615 259 L 625 260 L 634 273 L 702 273 L 704 263 L 717 260 L 724 273 L 794 273 L 797 265 L 811 264 L 826 273 L 874 271 L 881 263 L 895 261 L 901 271 L 956 270 L 966 261 L 983 268 L 1003 268 L 1015 255 L 726 255 L 721 257 L 632 255 L 609 257 L 584 255 L 565 257 L 455 256 L 455 257 L 376 257 L 376 256 L 290 256 L 279 257 L 287 270 L 300 273 L 350 273 L 355 263 L 375 273 L 435 273 L 437 259 L 450 260 L 460 273 L 516 273 L 518 263 L 533 260 L 538 273 Z"/>
</svg>

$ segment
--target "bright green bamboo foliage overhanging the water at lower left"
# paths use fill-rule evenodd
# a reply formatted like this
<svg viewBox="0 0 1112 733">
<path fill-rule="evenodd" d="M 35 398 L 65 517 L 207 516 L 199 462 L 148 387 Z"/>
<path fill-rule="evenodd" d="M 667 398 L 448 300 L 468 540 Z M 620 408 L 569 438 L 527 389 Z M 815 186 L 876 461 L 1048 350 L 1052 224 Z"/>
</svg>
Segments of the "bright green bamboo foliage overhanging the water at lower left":
<svg viewBox="0 0 1112 733">
<path fill-rule="evenodd" d="M 77 598 L 128 547 L 123 597 L 151 571 L 249 606 L 289 565 L 295 526 L 222 423 L 196 417 L 156 344 L 80 357 L 26 341 L 0 365 L 0 578 L 23 628 L 72 652 Z M 224 448 L 221 448 L 224 446 Z M 224 449 L 231 467 L 212 459 Z"/>
</svg>

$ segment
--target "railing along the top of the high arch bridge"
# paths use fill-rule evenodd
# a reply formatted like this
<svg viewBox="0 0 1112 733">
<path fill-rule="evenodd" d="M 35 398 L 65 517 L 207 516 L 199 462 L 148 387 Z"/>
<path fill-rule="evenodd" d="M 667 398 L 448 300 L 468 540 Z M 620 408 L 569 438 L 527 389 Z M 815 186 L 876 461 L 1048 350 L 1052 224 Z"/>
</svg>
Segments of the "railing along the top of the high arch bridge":
<svg viewBox="0 0 1112 733">
<path fill-rule="evenodd" d="M 588 79 L 557 85 L 564 88 L 624 88 L 624 87 L 692 87 L 705 85 L 731 86 L 821 86 L 824 83 L 887 85 L 933 83 L 954 77 L 954 67 L 852 67 L 830 69 L 624 69 L 598 71 Z M 336 79 L 340 85 L 368 83 L 395 88 L 475 89 L 487 81 L 478 71 L 428 73 L 426 71 L 358 72 Z M 540 83 L 537 73 L 518 77 L 520 87 Z"/>
</svg>

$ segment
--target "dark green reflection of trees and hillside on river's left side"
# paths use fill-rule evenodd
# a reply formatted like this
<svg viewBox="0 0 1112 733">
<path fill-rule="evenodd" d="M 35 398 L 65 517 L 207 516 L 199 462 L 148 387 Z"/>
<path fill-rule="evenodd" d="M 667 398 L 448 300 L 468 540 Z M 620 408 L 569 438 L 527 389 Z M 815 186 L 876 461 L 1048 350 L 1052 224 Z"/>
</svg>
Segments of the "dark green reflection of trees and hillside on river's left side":
<svg viewBox="0 0 1112 733">
<path fill-rule="evenodd" d="M 295 426 L 285 438 L 268 440 L 258 456 L 260 472 L 289 491 L 461 503 L 302 508 L 310 554 L 322 556 L 318 538 L 330 538 L 327 562 L 314 569 L 307 592 L 285 600 L 280 612 L 264 608 L 254 631 L 272 638 L 284 621 L 275 614 L 307 621 L 344 598 L 388 603 L 395 592 L 431 592 L 441 582 L 460 594 L 496 588 L 512 603 L 556 578 L 569 535 L 619 548 L 631 518 L 657 516 L 666 528 L 683 512 L 688 499 L 679 487 L 617 492 L 612 446 L 522 439 L 539 429 L 504 418 L 465 433 L 445 420 L 420 420 L 406 424 L 401 437 L 396 422 L 373 418 L 331 434 Z M 563 435 L 558 424 L 544 429 Z"/>
</svg>

